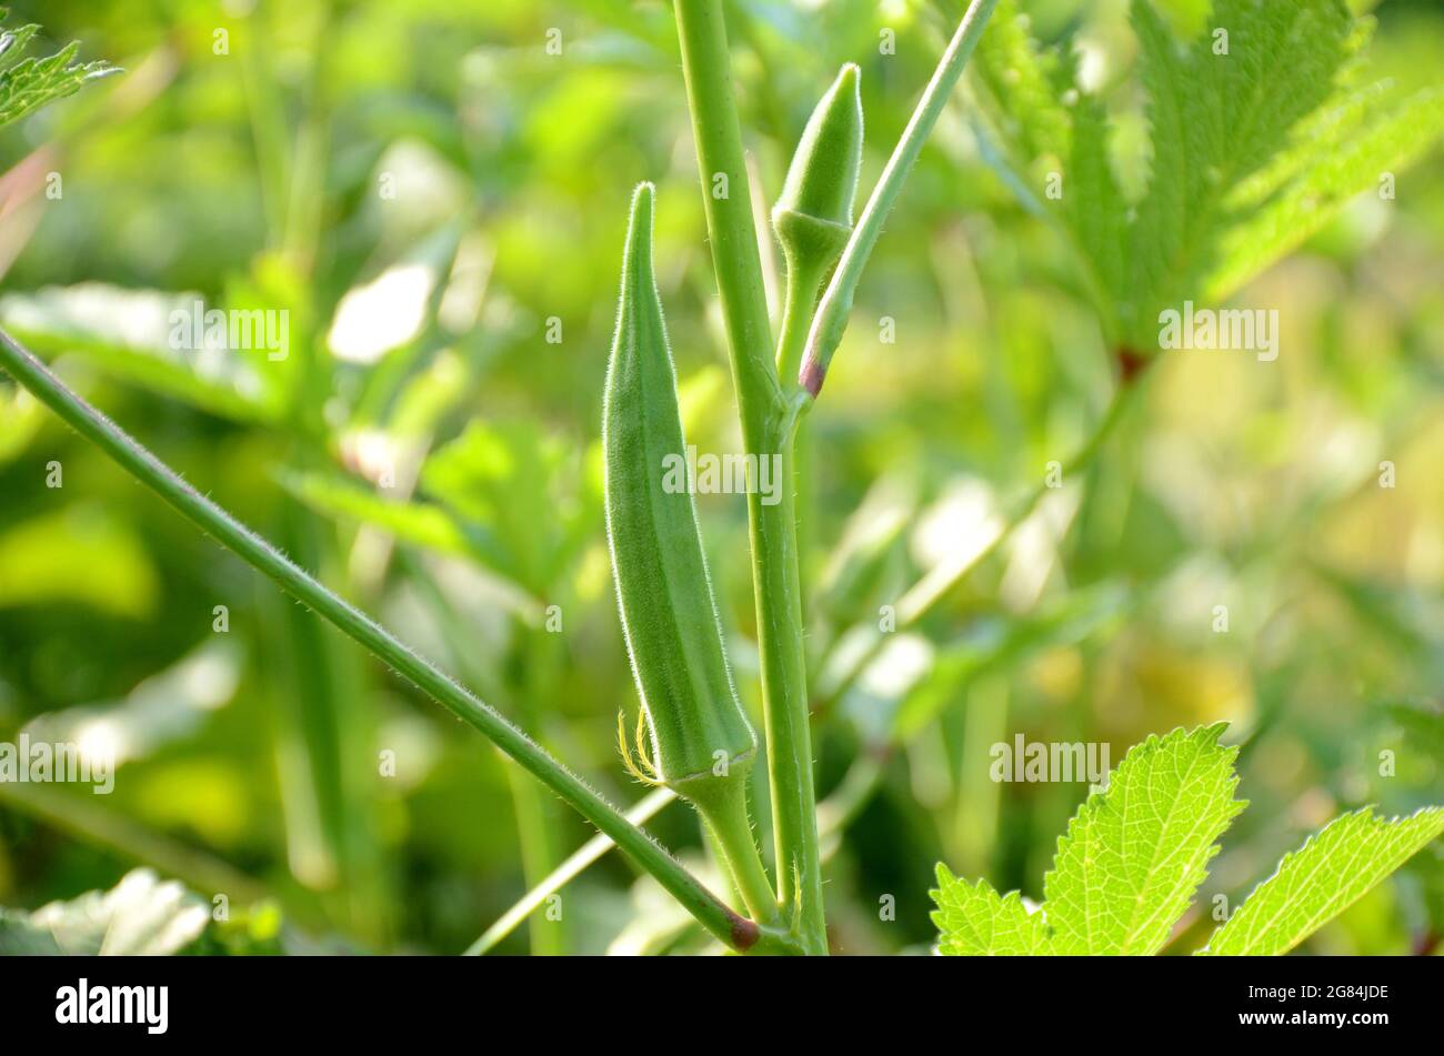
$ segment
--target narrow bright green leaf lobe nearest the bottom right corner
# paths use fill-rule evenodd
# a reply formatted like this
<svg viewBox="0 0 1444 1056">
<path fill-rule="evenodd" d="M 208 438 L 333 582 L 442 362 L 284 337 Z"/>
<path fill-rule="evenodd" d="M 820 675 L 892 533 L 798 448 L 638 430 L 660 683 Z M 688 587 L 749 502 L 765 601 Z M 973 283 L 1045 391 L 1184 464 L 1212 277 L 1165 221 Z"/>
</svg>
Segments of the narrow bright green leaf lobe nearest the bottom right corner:
<svg viewBox="0 0 1444 1056">
<path fill-rule="evenodd" d="M 1287 954 L 1444 832 L 1444 808 L 1385 819 L 1344 814 L 1291 854 L 1199 951 Z"/>
</svg>

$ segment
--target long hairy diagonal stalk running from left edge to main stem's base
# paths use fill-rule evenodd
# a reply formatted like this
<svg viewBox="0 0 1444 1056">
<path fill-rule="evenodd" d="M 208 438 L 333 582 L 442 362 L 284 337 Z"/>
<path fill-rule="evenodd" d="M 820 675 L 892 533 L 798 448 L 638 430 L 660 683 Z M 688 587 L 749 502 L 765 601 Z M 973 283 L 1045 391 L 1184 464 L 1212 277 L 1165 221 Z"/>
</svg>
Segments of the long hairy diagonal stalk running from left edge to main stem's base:
<svg viewBox="0 0 1444 1056">
<path fill-rule="evenodd" d="M 33 353 L 0 329 L 0 366 L 49 407 L 71 428 L 108 454 L 127 473 L 155 490 L 221 545 L 274 580 L 338 630 L 384 661 L 459 720 L 485 734 L 582 817 L 611 837 L 650 873 L 713 936 L 736 951 L 800 952 L 797 943 L 771 928 L 739 916 L 709 892 L 656 840 L 634 825 L 611 802 L 530 740 L 520 729 L 430 661 L 404 645 L 370 616 L 323 587 L 276 547 L 243 525 L 182 480 L 175 470 L 130 437 L 56 378 Z"/>
</svg>

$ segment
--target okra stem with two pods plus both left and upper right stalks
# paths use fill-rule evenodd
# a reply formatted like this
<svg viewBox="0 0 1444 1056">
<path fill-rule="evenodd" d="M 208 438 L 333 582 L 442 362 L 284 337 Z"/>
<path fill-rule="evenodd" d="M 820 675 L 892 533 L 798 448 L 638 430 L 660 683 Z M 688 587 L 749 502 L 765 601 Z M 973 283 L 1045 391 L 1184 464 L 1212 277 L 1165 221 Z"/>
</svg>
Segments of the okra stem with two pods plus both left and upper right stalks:
<svg viewBox="0 0 1444 1056">
<path fill-rule="evenodd" d="M 757 231 L 742 160 L 741 130 L 721 0 L 679 0 L 687 100 L 702 173 L 722 175 L 731 193 L 705 196 L 713 264 L 722 294 L 734 381 L 748 454 L 780 456 L 790 479 L 800 414 L 816 397 L 826 361 L 840 340 L 862 264 L 908 169 L 937 121 L 996 0 L 976 0 L 965 14 L 855 231 L 849 229 L 862 123 L 856 69 L 827 92 L 803 138 L 775 212 L 793 263 L 791 310 L 774 349 L 762 294 Z M 61 63 L 69 65 L 69 55 Z M 64 92 L 52 92 L 55 95 Z M 17 110 L 16 114 L 26 113 Z M 710 177 L 705 180 L 712 185 Z M 846 241 L 843 232 L 848 232 Z M 758 622 L 762 626 L 765 744 L 777 844 L 775 889 L 754 842 L 745 779 L 757 734 L 738 704 L 716 606 L 706 577 L 690 498 L 660 492 L 648 459 L 680 446 L 676 382 L 651 274 L 651 190 L 632 203 L 617 339 L 606 392 L 606 521 L 618 597 L 632 656 L 651 753 L 634 767 L 692 801 L 716 838 L 751 916 L 709 892 L 656 841 L 517 726 L 357 607 L 323 587 L 273 544 L 185 483 L 150 452 L 65 387 L 33 353 L 0 332 L 0 362 L 43 404 L 137 479 L 205 528 L 222 545 L 274 578 L 503 752 L 611 837 L 718 939 L 738 951 L 827 951 L 822 861 L 813 789 L 801 590 L 790 488 L 764 505 L 749 493 Z M 840 254 L 832 268 L 829 258 Z M 832 270 L 817 319 L 813 304 Z M 829 309 L 829 306 L 832 306 Z M 843 320 L 845 322 L 845 320 Z M 799 379 L 780 378 L 778 359 L 799 355 L 812 323 Z M 775 894 L 774 894 L 775 890 Z"/>
</svg>

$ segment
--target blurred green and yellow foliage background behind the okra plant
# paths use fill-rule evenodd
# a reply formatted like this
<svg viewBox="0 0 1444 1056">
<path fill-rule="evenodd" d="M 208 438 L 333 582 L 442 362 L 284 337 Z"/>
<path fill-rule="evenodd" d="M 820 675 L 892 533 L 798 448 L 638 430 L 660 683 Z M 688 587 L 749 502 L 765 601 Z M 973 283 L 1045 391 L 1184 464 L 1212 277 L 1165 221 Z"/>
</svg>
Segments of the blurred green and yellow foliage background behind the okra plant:
<svg viewBox="0 0 1444 1056">
<path fill-rule="evenodd" d="M 0 134 L 0 322 L 615 801 L 640 799 L 615 747 L 635 691 L 598 434 L 641 179 L 658 186 L 689 439 L 739 450 L 670 6 L 12 6 L 45 23 L 46 50 L 79 39 L 127 72 Z M 1025 7 L 1128 107 L 1123 0 Z M 1380 23 L 1372 72 L 1438 81 L 1440 4 L 1356 7 Z M 731 4 L 754 196 L 775 198 L 845 61 L 862 66 L 869 188 L 953 9 Z M 1057 234 L 982 163 L 963 113 L 924 151 L 809 420 L 833 943 L 924 951 L 939 860 L 1041 893 L 1086 786 L 996 785 L 992 743 L 1105 742 L 1116 765 L 1151 731 L 1222 718 L 1252 808 L 1190 918 L 1206 929 L 1216 896 L 1236 905 L 1340 811 L 1444 802 L 1444 153 L 1240 294 L 1284 309 L 1275 364 L 1167 356 L 1084 478 L 838 687 L 848 629 L 1066 460 L 1113 384 Z M 287 310 L 290 355 L 172 351 L 169 312 L 196 296 Z M 755 708 L 745 505 L 706 496 L 700 514 Z M 22 730 L 123 762 L 110 796 L 0 785 L 0 905 L 150 864 L 228 894 L 214 948 L 458 952 L 589 837 L 0 382 L 0 740 Z M 651 827 L 706 868 L 684 808 Z M 500 949 L 706 945 L 615 855 L 549 909 Z M 1432 848 L 1305 949 L 1441 936 Z"/>
</svg>

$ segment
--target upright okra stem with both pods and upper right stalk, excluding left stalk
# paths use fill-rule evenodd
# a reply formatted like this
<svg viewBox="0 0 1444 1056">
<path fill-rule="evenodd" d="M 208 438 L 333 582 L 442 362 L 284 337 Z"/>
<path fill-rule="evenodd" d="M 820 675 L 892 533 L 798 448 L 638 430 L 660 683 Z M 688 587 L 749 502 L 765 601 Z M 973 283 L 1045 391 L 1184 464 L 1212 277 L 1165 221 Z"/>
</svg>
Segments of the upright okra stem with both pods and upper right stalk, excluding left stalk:
<svg viewBox="0 0 1444 1056">
<path fill-rule="evenodd" d="M 658 476 L 663 460 L 680 456 L 684 440 L 651 274 L 651 188 L 643 185 L 632 199 L 606 381 L 606 514 L 622 623 L 656 757 L 651 767 L 706 819 L 754 919 L 764 925 L 775 919 L 809 954 L 827 952 L 827 932 L 793 444 L 842 340 L 862 267 L 993 7 L 995 0 L 976 0 L 967 9 L 856 226 L 864 131 L 858 68 L 845 66 L 822 97 L 771 214 L 787 263 L 783 330 L 774 349 L 723 6 L 676 4 L 745 453 L 781 465 L 777 502 L 765 503 L 758 488 L 748 488 L 777 867 L 771 884 L 747 814 L 745 763 L 755 734 L 728 671 L 696 511 L 690 495 L 666 493 Z M 712 190 L 719 185 L 728 190 Z"/>
</svg>

